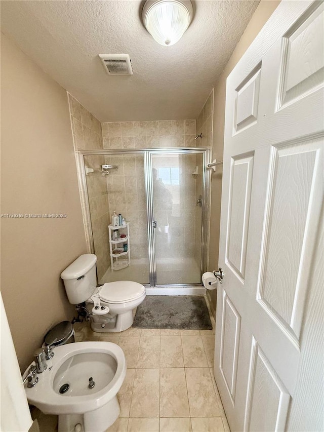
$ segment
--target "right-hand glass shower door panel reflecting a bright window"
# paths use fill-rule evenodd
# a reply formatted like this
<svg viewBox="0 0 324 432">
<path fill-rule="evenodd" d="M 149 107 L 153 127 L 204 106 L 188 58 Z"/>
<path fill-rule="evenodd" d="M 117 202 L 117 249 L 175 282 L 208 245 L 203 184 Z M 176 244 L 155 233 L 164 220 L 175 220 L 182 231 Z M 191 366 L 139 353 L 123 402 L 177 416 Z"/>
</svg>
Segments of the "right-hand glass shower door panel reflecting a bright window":
<svg viewBox="0 0 324 432">
<path fill-rule="evenodd" d="M 152 154 L 156 284 L 199 284 L 203 154 Z"/>
</svg>

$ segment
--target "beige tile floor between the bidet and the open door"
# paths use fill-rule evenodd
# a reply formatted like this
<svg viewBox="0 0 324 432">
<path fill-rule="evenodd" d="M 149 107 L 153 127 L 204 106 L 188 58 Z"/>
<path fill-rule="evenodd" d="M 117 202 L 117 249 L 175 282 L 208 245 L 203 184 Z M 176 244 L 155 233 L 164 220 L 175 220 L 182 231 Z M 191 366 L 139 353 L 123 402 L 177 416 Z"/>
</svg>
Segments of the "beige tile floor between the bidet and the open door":
<svg viewBox="0 0 324 432">
<path fill-rule="evenodd" d="M 127 361 L 120 415 L 107 432 L 228 432 L 213 376 L 213 330 L 130 328 L 95 333 L 79 324 L 76 341 L 118 344 Z"/>
</svg>

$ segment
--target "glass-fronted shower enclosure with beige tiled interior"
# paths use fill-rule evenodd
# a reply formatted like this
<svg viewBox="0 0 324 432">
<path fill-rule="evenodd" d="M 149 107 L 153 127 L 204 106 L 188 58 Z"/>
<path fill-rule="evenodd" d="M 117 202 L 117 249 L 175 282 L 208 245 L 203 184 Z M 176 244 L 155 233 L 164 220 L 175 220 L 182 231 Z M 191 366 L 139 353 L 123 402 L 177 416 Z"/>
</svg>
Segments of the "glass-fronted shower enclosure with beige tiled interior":
<svg viewBox="0 0 324 432">
<path fill-rule="evenodd" d="M 206 270 L 210 149 L 79 154 L 99 284 L 133 280 L 152 288 L 200 286 Z M 129 223 L 130 265 L 119 270 L 110 265 L 108 225 L 114 211 Z"/>
</svg>

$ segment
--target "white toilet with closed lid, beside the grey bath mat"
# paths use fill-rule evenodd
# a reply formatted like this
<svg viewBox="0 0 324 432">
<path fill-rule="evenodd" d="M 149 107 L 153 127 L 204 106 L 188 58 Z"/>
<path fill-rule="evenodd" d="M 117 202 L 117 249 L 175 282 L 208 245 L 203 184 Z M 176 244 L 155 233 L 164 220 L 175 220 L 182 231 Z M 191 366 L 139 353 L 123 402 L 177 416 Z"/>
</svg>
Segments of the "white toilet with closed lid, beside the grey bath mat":
<svg viewBox="0 0 324 432">
<path fill-rule="evenodd" d="M 108 282 L 97 287 L 95 254 L 80 255 L 61 273 L 71 304 L 86 302 L 95 332 L 121 332 L 132 326 L 133 309 L 144 300 L 145 287 L 137 282 Z"/>
</svg>

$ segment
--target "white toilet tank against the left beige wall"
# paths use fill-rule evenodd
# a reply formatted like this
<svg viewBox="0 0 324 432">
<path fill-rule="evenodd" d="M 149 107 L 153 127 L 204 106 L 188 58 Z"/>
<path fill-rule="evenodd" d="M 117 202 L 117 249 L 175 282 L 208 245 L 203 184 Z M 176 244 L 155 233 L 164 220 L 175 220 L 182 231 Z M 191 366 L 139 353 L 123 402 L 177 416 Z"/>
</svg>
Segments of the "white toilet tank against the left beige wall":
<svg viewBox="0 0 324 432">
<path fill-rule="evenodd" d="M 61 273 L 65 291 L 71 304 L 88 300 L 97 287 L 96 261 L 94 254 L 80 255 Z"/>
</svg>

